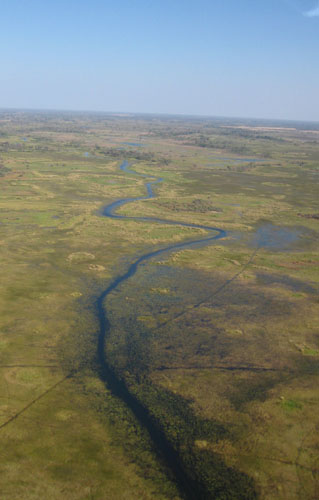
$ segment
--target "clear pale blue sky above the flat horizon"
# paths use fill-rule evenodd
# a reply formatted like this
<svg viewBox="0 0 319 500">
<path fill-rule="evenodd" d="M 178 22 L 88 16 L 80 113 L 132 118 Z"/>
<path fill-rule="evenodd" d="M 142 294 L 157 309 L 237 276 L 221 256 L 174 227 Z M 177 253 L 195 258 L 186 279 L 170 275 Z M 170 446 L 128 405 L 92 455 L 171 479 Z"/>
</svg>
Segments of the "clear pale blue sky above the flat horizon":
<svg viewBox="0 0 319 500">
<path fill-rule="evenodd" d="M 0 108 L 319 121 L 319 0 L 1 0 Z"/>
</svg>

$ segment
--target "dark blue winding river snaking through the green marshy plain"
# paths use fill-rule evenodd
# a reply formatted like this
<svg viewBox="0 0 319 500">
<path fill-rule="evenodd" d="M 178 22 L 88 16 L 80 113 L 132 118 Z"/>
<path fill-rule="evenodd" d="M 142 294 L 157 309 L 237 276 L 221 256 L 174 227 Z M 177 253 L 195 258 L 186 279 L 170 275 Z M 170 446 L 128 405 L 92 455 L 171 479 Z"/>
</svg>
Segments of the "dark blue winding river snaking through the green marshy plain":
<svg viewBox="0 0 319 500">
<path fill-rule="evenodd" d="M 135 415 L 140 425 L 148 431 L 159 457 L 165 462 L 166 466 L 173 474 L 182 497 L 187 499 L 197 500 L 200 498 L 198 492 L 198 485 L 187 474 L 187 471 L 184 469 L 178 453 L 175 451 L 173 446 L 167 440 L 164 432 L 162 432 L 161 429 L 156 425 L 156 421 L 153 419 L 148 409 L 144 407 L 143 404 L 133 394 L 131 394 L 125 382 L 117 376 L 113 368 L 108 364 L 107 358 L 105 356 L 105 344 L 111 325 L 108 319 L 108 311 L 105 305 L 105 299 L 108 297 L 110 293 L 116 290 L 121 285 L 121 283 L 125 282 L 126 280 L 134 276 L 140 264 L 152 259 L 153 257 L 157 257 L 163 253 L 172 252 L 174 250 L 180 250 L 183 248 L 189 248 L 199 244 L 200 245 L 208 244 L 214 240 L 224 238 L 226 236 L 226 232 L 223 229 L 212 226 L 190 224 L 186 222 L 159 219 L 153 217 L 132 217 L 132 216 L 118 214 L 117 209 L 127 203 L 154 198 L 155 193 L 153 191 L 153 186 L 163 181 L 163 179 L 155 178 L 149 175 L 139 174 L 131 170 L 129 168 L 129 163 L 127 161 L 124 161 L 121 164 L 120 168 L 123 172 L 127 174 L 134 174 L 148 179 L 153 179 L 145 183 L 147 196 L 117 200 L 105 206 L 100 212 L 101 216 L 110 217 L 112 219 L 127 219 L 127 220 L 141 221 L 141 222 L 152 221 L 159 224 L 166 224 L 166 225 L 169 224 L 174 226 L 204 229 L 209 233 L 214 233 L 206 237 L 187 240 L 180 243 L 174 243 L 172 245 L 168 245 L 166 247 L 145 253 L 144 255 L 137 258 L 134 262 L 132 262 L 128 266 L 128 269 L 125 273 L 114 278 L 114 280 L 110 283 L 110 285 L 101 293 L 101 295 L 97 299 L 97 310 L 98 310 L 99 326 L 100 326 L 97 354 L 100 365 L 100 376 L 102 380 L 107 384 L 107 387 L 110 389 L 112 394 L 121 399 L 130 408 L 130 410 Z"/>
</svg>

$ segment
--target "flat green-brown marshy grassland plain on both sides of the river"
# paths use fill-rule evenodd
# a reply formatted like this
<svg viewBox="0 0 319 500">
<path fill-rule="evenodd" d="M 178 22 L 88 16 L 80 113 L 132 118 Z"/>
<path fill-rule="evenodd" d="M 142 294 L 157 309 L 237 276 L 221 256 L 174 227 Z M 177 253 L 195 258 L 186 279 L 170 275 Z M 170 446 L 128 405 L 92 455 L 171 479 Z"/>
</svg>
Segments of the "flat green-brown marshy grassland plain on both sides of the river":
<svg viewBox="0 0 319 500">
<path fill-rule="evenodd" d="M 319 126 L 0 113 L 4 499 L 177 499 L 165 457 L 101 378 L 105 359 L 197 498 L 319 495 Z M 151 177 L 150 177 L 151 180 Z M 190 472 L 191 471 L 191 472 Z"/>
</svg>

